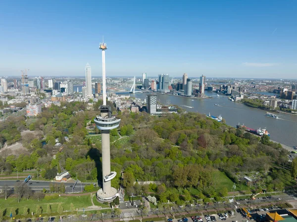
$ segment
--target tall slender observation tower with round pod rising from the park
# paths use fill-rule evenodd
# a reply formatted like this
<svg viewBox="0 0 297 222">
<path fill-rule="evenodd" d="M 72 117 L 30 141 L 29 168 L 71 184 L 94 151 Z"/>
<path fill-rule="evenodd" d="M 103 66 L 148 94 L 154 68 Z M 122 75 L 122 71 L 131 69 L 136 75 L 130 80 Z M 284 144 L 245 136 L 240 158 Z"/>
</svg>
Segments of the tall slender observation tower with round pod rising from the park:
<svg viewBox="0 0 297 222">
<path fill-rule="evenodd" d="M 100 116 L 97 116 L 94 121 L 97 128 L 101 131 L 102 143 L 102 188 L 97 193 L 99 201 L 112 201 L 119 194 L 116 188 L 111 186 L 111 179 L 115 178 L 116 172 L 110 171 L 110 143 L 109 131 L 119 127 L 121 119 L 112 116 L 110 106 L 106 105 L 106 87 L 105 87 L 105 43 L 100 43 L 99 48 L 102 50 L 102 85 L 103 85 L 103 105 L 99 107 Z"/>
</svg>

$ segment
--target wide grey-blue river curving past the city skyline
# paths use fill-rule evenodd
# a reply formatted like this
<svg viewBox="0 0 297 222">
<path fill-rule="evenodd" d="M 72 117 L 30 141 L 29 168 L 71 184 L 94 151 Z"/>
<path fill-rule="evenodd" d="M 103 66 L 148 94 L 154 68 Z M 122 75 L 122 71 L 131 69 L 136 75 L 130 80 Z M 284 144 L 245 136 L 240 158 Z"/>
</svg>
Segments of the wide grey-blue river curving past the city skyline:
<svg viewBox="0 0 297 222">
<path fill-rule="evenodd" d="M 130 94 L 131 97 L 145 99 L 148 93 Z M 211 99 L 191 99 L 187 97 L 157 94 L 157 100 L 166 104 L 167 100 L 173 105 L 178 105 L 189 112 L 198 112 L 207 115 L 209 112 L 213 116 L 222 115 L 226 124 L 236 127 L 238 123 L 248 128 L 266 128 L 270 133 L 270 138 L 287 146 L 297 145 L 297 115 L 279 113 L 279 119 L 265 116 L 266 111 L 248 107 L 239 102 L 231 102 L 226 96 L 212 97 Z M 215 96 L 216 93 L 205 92 L 206 95 Z M 194 101 L 192 101 L 194 100 Z M 219 104 L 219 106 L 214 106 Z M 192 106 L 194 108 L 188 108 Z"/>
</svg>

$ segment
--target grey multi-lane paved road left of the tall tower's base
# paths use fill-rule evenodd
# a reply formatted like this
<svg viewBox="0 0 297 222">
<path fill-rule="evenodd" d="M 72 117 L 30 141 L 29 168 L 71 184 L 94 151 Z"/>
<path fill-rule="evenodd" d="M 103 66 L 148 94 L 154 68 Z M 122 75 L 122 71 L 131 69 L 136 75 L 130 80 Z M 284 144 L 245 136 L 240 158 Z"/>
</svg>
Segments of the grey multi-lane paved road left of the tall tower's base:
<svg viewBox="0 0 297 222">
<path fill-rule="evenodd" d="M 23 181 L 23 180 L 20 179 L 20 181 Z M 5 185 L 12 188 L 15 186 L 15 184 L 17 182 L 18 182 L 17 180 L 0 180 L 0 189 L 1 189 L 1 187 L 5 186 Z M 30 186 L 33 190 L 43 190 L 43 188 L 46 188 L 47 190 L 49 190 L 50 183 L 54 183 L 54 184 L 58 184 L 58 185 L 61 184 L 61 182 L 29 180 L 25 185 Z M 65 184 L 65 192 L 66 193 L 72 192 L 72 187 L 70 187 L 70 186 L 73 186 L 74 183 L 64 182 L 64 184 Z M 84 190 L 84 187 L 86 184 L 90 184 L 90 183 L 78 182 L 76 184 L 76 186 L 74 187 L 73 192 L 80 192 L 81 190 Z"/>
</svg>

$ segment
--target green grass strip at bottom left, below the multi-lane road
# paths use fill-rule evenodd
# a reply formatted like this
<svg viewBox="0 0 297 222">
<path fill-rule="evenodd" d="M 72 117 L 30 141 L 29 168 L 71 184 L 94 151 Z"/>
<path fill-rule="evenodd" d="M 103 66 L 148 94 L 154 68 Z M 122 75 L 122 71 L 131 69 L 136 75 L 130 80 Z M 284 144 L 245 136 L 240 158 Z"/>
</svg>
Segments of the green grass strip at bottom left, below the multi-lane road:
<svg viewBox="0 0 297 222">
<path fill-rule="evenodd" d="M 23 214 L 24 207 L 30 208 L 30 212 L 36 211 L 36 206 L 40 205 L 43 209 L 43 213 L 47 213 L 47 205 L 51 205 L 52 212 L 57 211 L 58 204 L 61 203 L 64 211 L 70 210 L 70 204 L 73 203 L 75 208 L 82 209 L 87 208 L 89 206 L 92 206 L 90 195 L 84 195 L 84 196 L 61 196 L 56 200 L 34 200 L 34 199 L 22 199 L 20 203 L 17 202 L 17 198 L 15 197 L 8 197 L 7 200 L 5 198 L 0 198 L 0 209 L 6 211 L 6 216 L 9 216 L 10 214 L 10 208 L 17 209 L 19 215 Z"/>
</svg>

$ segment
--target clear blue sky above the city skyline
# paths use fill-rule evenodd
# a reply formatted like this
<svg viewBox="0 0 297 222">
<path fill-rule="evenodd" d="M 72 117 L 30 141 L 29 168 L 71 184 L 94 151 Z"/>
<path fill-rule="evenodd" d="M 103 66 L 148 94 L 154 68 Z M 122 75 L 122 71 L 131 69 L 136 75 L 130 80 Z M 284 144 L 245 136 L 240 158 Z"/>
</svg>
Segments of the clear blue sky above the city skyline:
<svg viewBox="0 0 297 222">
<path fill-rule="evenodd" d="M 0 1 L 0 76 L 297 78 L 296 0 Z"/>
</svg>

